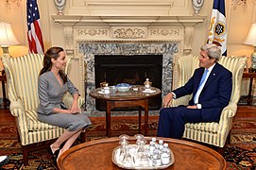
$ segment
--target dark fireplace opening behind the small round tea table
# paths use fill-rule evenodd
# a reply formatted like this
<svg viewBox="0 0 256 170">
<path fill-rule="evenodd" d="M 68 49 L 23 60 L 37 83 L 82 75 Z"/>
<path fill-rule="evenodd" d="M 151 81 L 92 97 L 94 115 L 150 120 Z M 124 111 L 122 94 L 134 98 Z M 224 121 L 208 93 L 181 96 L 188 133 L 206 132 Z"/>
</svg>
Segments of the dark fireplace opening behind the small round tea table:
<svg viewBox="0 0 256 170">
<path fill-rule="evenodd" d="M 94 56 L 95 87 L 101 82 L 109 86 L 118 83 L 143 85 L 148 77 L 152 86 L 162 90 L 162 55 L 95 55 Z M 96 110 L 106 110 L 105 101 L 96 99 Z M 149 99 L 149 110 L 162 107 L 162 96 Z M 138 110 L 138 108 L 117 108 L 114 110 Z"/>
</svg>

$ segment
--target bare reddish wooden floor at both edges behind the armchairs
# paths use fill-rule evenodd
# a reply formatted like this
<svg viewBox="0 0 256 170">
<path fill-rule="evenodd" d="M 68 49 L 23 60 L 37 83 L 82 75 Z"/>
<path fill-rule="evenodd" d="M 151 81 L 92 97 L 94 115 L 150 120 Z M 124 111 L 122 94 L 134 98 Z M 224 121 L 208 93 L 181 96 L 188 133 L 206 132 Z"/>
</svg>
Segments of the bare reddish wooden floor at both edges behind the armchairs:
<svg viewBox="0 0 256 170">
<path fill-rule="evenodd" d="M 236 118 L 241 118 L 241 117 L 256 118 L 256 106 L 238 106 L 234 120 Z M 11 121 L 14 122 L 15 118 L 10 114 L 9 110 L 0 109 L 0 123 L 11 122 Z"/>
</svg>

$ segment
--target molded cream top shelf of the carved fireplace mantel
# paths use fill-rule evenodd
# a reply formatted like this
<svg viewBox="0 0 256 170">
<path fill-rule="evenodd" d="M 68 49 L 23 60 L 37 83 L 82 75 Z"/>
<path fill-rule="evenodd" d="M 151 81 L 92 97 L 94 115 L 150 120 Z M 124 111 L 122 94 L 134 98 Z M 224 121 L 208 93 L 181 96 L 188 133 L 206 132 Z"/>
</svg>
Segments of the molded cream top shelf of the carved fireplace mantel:
<svg viewBox="0 0 256 170">
<path fill-rule="evenodd" d="M 205 16 L 83 16 L 52 15 L 62 26 L 195 26 Z"/>
</svg>

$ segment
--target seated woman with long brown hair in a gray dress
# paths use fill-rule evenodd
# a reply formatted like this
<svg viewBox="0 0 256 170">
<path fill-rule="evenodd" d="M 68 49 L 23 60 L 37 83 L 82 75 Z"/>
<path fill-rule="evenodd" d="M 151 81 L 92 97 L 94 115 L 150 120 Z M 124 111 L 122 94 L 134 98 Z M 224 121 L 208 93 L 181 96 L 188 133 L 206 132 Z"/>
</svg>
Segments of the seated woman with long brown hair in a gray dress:
<svg viewBox="0 0 256 170">
<path fill-rule="evenodd" d="M 66 128 L 60 138 L 50 145 L 55 161 L 61 153 L 71 147 L 81 131 L 92 124 L 88 116 L 78 108 L 78 90 L 64 74 L 65 66 L 64 50 L 60 47 L 51 47 L 44 54 L 43 69 L 38 81 L 38 119 L 53 126 Z M 73 95 L 71 108 L 66 108 L 62 102 L 63 95 L 67 92 Z M 64 142 L 60 148 L 60 144 Z"/>
</svg>

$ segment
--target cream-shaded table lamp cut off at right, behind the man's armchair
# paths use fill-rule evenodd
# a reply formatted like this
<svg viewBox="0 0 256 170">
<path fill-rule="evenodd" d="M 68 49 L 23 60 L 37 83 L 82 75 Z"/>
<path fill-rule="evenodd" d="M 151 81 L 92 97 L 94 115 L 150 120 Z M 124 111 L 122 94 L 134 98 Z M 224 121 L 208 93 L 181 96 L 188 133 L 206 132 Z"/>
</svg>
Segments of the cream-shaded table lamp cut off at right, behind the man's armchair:
<svg viewBox="0 0 256 170">
<path fill-rule="evenodd" d="M 247 38 L 244 43 L 254 46 L 254 52 L 250 56 L 251 71 L 254 72 L 256 71 L 256 23 L 250 26 Z"/>
</svg>

